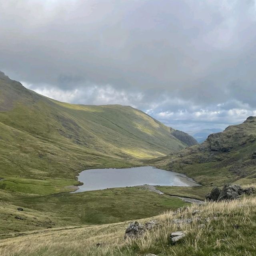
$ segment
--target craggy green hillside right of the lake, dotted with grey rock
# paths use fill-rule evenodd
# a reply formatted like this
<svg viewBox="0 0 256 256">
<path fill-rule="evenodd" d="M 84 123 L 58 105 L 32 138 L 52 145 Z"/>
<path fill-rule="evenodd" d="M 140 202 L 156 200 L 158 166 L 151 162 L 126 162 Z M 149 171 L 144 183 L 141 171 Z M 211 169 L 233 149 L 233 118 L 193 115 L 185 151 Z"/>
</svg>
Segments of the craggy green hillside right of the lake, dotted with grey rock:
<svg viewBox="0 0 256 256">
<path fill-rule="evenodd" d="M 200 145 L 149 161 L 150 164 L 188 174 L 202 184 L 223 185 L 256 181 L 256 117 L 210 134 Z"/>
</svg>

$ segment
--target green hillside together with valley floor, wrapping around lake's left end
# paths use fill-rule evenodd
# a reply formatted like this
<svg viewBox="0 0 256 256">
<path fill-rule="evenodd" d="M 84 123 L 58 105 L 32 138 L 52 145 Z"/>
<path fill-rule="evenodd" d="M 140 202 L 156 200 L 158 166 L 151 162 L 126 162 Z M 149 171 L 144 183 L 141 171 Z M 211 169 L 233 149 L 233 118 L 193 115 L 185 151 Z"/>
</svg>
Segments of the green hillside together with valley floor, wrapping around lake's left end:
<svg viewBox="0 0 256 256">
<path fill-rule="evenodd" d="M 139 188 L 68 193 L 86 168 L 141 166 L 187 146 L 130 106 L 58 102 L 0 72 L 0 131 L 1 234 L 145 218 L 185 204 Z"/>
</svg>

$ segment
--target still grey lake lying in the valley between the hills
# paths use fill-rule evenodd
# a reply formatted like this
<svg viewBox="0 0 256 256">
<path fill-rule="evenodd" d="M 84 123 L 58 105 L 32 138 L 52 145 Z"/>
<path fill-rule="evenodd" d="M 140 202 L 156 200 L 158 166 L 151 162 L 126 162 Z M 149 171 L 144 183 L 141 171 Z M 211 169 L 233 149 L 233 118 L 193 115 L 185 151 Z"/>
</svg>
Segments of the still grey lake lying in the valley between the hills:
<svg viewBox="0 0 256 256">
<path fill-rule="evenodd" d="M 90 169 L 80 172 L 78 180 L 84 185 L 73 193 L 106 188 L 132 187 L 139 185 L 200 186 L 185 174 L 142 166 L 123 169 Z"/>
</svg>

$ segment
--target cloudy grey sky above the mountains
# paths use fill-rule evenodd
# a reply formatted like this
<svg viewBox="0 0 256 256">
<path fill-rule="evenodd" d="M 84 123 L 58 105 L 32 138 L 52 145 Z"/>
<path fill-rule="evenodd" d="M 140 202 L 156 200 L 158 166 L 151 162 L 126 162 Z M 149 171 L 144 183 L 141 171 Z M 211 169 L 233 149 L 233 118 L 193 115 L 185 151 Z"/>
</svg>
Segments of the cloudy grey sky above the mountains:
<svg viewBox="0 0 256 256">
<path fill-rule="evenodd" d="M 256 116 L 254 0 L 0 0 L 0 70 L 183 131 Z"/>
</svg>

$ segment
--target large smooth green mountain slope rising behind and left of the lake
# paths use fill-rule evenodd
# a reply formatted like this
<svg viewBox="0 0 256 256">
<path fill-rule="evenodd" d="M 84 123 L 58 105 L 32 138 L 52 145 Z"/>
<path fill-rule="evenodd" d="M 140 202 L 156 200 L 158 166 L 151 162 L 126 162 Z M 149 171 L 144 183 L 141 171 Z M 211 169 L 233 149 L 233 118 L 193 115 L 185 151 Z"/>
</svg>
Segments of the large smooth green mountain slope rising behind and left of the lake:
<svg viewBox="0 0 256 256">
<path fill-rule="evenodd" d="M 172 136 L 169 127 L 130 106 L 58 102 L 2 72 L 0 130 L 4 178 L 74 180 L 83 168 L 136 165 L 142 158 L 188 146 Z"/>
</svg>

